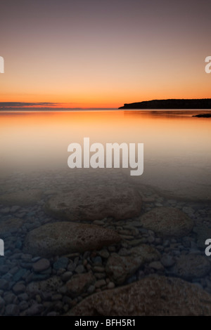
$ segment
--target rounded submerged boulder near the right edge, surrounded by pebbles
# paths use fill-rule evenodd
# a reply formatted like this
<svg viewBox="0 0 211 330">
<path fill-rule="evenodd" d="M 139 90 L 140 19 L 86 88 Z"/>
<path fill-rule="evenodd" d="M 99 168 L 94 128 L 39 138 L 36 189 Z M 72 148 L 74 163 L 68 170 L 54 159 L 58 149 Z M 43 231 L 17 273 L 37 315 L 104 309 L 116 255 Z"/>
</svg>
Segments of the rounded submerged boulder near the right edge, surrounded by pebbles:
<svg viewBox="0 0 211 330">
<path fill-rule="evenodd" d="M 143 227 L 160 237 L 183 237 L 193 229 L 193 220 L 173 207 L 158 207 L 140 218 Z"/>
</svg>

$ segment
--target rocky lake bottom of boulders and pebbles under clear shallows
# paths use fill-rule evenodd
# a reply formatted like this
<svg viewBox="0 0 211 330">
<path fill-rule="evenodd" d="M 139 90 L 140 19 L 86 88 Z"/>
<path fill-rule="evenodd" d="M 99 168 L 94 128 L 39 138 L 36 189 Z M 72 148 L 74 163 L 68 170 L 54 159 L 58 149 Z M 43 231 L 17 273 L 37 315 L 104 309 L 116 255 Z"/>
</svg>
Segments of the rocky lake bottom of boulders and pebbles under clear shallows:
<svg viewBox="0 0 211 330">
<path fill-rule="evenodd" d="M 0 183 L 0 315 L 211 315 L 209 200 L 121 171 Z"/>
</svg>

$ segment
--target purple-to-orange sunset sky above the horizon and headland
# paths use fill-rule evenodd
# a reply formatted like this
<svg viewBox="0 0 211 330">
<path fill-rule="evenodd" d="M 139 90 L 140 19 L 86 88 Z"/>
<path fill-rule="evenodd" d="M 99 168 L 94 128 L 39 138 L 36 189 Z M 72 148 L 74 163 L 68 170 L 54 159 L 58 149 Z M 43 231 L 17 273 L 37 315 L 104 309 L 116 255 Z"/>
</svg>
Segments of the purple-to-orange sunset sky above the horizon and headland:
<svg viewBox="0 0 211 330">
<path fill-rule="evenodd" d="M 211 98 L 209 0 L 0 2 L 0 110 Z"/>
</svg>

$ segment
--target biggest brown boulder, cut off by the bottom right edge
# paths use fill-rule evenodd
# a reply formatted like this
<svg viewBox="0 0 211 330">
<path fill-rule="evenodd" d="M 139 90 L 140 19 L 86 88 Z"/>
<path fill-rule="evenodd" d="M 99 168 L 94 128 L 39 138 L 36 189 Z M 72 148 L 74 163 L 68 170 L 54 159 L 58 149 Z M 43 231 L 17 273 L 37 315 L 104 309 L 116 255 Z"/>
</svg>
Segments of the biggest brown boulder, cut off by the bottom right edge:
<svg viewBox="0 0 211 330">
<path fill-rule="evenodd" d="M 210 315 L 211 295 L 174 277 L 150 276 L 117 289 L 94 293 L 71 316 Z"/>
</svg>

